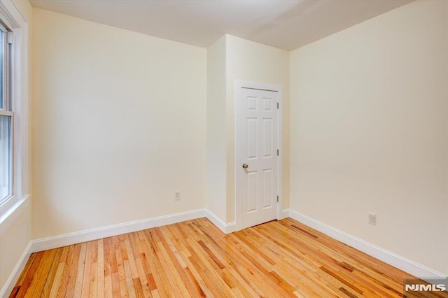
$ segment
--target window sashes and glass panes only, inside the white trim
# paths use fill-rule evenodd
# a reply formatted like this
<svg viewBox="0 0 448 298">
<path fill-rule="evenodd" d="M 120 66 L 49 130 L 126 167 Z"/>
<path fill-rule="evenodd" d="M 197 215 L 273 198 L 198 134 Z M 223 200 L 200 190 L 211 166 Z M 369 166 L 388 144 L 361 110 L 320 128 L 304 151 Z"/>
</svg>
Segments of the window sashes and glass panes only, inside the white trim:
<svg viewBox="0 0 448 298">
<path fill-rule="evenodd" d="M 12 32 L 0 22 L 0 206 L 13 197 Z"/>
</svg>

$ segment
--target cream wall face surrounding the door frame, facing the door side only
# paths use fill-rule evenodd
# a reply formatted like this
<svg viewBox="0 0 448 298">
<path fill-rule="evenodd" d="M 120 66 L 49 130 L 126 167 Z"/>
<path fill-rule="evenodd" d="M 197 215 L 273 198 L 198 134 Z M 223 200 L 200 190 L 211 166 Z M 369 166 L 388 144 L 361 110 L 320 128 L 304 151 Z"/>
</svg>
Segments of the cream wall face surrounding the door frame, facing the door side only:
<svg viewBox="0 0 448 298">
<path fill-rule="evenodd" d="M 283 88 L 283 208 L 289 190 L 289 52 L 226 35 L 227 222 L 235 220 L 235 80 Z"/>
</svg>

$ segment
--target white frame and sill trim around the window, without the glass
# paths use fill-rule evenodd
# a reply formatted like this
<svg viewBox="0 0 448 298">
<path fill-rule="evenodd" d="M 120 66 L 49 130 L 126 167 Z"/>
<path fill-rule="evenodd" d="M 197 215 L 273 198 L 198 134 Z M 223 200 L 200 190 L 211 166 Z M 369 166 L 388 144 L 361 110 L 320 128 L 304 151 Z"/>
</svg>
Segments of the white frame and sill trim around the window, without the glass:
<svg viewBox="0 0 448 298">
<path fill-rule="evenodd" d="M 28 24 L 12 0 L 0 1 L 0 17 L 13 31 L 10 93 L 13 117 L 13 197 L 0 206 L 0 235 L 29 206 Z"/>
</svg>

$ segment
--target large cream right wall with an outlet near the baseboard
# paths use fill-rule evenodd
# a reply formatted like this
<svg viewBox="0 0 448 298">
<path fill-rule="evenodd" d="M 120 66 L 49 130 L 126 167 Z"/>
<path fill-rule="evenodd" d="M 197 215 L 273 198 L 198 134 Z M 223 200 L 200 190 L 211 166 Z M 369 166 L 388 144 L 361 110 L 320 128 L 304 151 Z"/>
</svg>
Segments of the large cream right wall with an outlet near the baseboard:
<svg viewBox="0 0 448 298">
<path fill-rule="evenodd" d="M 290 86 L 290 208 L 448 274 L 448 2 L 291 52 Z"/>
</svg>

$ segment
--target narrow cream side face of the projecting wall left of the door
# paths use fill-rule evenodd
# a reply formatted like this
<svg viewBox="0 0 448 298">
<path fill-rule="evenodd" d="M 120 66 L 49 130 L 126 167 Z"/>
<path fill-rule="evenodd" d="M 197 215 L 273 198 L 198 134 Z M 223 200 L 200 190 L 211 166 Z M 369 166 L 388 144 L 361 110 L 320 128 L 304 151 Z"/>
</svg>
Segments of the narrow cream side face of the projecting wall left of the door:
<svg viewBox="0 0 448 298">
<path fill-rule="evenodd" d="M 206 208 L 226 220 L 225 36 L 207 49 Z"/>
</svg>

